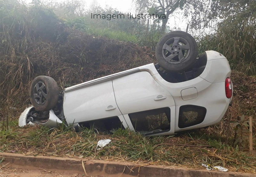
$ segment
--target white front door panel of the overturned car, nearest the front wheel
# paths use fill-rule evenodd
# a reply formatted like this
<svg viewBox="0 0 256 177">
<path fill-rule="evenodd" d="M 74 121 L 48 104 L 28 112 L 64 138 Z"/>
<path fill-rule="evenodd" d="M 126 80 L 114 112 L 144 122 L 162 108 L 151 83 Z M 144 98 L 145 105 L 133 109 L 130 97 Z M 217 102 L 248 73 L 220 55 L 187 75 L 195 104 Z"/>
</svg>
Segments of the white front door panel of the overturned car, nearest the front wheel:
<svg viewBox="0 0 256 177">
<path fill-rule="evenodd" d="M 119 117 L 120 121 L 124 123 L 123 126 L 127 127 L 123 115 L 116 105 L 112 80 L 87 85 L 65 92 L 63 110 L 67 123 L 83 122 L 86 124 L 86 122 L 98 119 L 105 121 L 104 118 Z"/>
</svg>

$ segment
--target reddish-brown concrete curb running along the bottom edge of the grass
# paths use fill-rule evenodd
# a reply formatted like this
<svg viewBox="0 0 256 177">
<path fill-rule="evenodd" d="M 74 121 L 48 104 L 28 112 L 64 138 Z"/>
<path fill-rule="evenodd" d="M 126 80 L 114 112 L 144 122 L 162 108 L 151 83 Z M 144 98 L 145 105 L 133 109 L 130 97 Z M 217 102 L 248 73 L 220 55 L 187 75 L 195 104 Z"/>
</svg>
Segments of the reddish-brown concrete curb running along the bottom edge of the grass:
<svg viewBox="0 0 256 177">
<path fill-rule="evenodd" d="M 0 153 L 4 158 L 1 166 L 8 164 L 22 169 L 39 169 L 61 172 L 84 174 L 81 159 L 58 158 L 45 156 L 25 156 L 22 154 Z M 111 177 L 252 177 L 251 173 L 219 172 L 207 170 L 194 170 L 180 167 L 134 165 L 123 162 L 102 160 L 83 160 L 86 173 L 89 175 L 104 175 Z"/>
</svg>

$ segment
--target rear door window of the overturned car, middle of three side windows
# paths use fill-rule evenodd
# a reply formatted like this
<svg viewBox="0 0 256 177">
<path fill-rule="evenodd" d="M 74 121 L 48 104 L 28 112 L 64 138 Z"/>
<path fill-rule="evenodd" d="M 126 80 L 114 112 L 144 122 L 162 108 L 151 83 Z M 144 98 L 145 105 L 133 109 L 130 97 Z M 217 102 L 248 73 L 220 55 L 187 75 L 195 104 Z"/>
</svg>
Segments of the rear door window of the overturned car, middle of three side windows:
<svg viewBox="0 0 256 177">
<path fill-rule="evenodd" d="M 167 132 L 171 129 L 171 113 L 169 107 L 128 115 L 133 128 L 143 135 Z"/>
</svg>

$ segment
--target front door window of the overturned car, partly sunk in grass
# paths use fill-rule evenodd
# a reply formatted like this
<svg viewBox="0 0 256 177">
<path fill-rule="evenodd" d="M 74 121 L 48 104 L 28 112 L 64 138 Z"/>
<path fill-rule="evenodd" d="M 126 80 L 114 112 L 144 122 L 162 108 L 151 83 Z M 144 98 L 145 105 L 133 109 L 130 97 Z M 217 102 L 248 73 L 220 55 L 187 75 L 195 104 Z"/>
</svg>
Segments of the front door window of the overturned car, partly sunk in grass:
<svg viewBox="0 0 256 177">
<path fill-rule="evenodd" d="M 94 128 L 101 132 L 111 132 L 111 130 L 119 128 L 124 129 L 124 126 L 118 116 L 80 122 L 79 125 L 83 128 Z"/>
</svg>

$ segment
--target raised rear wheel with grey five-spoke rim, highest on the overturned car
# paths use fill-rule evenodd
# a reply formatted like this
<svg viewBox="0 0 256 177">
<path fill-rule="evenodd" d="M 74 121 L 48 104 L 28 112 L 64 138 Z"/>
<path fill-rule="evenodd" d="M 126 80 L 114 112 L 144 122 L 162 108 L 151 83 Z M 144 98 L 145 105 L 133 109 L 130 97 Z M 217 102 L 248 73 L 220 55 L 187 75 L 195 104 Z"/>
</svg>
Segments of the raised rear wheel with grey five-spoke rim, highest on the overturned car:
<svg viewBox="0 0 256 177">
<path fill-rule="evenodd" d="M 165 34 L 157 43 L 156 59 L 164 70 L 185 71 L 196 62 L 197 49 L 196 41 L 190 34 L 173 31 Z"/>
</svg>

